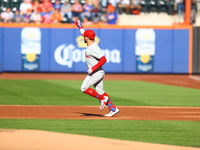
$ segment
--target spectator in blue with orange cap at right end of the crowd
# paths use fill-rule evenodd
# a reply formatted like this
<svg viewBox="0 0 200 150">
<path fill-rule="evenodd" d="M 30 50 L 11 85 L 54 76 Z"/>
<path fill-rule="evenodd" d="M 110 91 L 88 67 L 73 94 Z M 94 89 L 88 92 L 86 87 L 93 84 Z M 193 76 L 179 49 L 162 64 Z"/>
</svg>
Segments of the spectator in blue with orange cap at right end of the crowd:
<svg viewBox="0 0 200 150">
<path fill-rule="evenodd" d="M 107 23 L 108 24 L 117 24 L 117 12 L 115 11 L 115 7 L 109 4 L 107 6 Z"/>
</svg>

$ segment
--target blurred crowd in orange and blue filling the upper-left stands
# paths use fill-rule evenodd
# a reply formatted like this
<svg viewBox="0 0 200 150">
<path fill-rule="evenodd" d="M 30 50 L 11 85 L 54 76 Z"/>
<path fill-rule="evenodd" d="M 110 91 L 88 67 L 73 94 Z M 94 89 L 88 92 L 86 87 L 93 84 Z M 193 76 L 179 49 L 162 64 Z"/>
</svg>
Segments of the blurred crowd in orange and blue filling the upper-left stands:
<svg viewBox="0 0 200 150">
<path fill-rule="evenodd" d="M 116 24 L 118 13 L 116 7 L 111 3 L 102 6 L 102 1 L 85 0 L 23 0 L 16 11 L 7 7 L 1 12 L 1 22 L 10 23 L 36 23 L 36 24 L 58 24 L 72 23 L 79 18 L 83 24 Z"/>
</svg>

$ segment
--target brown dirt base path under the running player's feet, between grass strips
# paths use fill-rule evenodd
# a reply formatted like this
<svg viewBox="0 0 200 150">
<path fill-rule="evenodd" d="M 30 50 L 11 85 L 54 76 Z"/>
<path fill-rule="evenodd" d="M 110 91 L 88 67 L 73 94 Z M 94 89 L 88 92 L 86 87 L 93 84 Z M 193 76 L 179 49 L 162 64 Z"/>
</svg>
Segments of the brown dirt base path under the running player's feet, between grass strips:
<svg viewBox="0 0 200 150">
<path fill-rule="evenodd" d="M 18 106 L 0 105 L 0 118 L 23 119 L 112 119 L 112 120 L 183 120 L 200 121 L 200 107 L 119 106 L 120 113 L 103 117 L 105 108 L 97 106 Z"/>
</svg>

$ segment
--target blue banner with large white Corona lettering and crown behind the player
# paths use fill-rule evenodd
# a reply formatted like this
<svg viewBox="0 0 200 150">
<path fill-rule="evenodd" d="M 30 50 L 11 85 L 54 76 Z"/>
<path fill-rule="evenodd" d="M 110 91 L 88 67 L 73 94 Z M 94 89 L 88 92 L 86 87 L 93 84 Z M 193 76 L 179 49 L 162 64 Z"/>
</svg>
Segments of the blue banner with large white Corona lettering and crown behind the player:
<svg viewBox="0 0 200 150">
<path fill-rule="evenodd" d="M 73 35 L 75 31 L 75 34 Z M 109 72 L 122 72 L 122 30 L 111 30 L 113 39 L 106 30 L 94 30 L 95 42 L 99 44 L 107 58 L 104 69 Z M 79 30 L 51 30 L 51 71 L 86 72 L 85 49 L 83 37 Z M 105 36 L 104 36 L 105 35 Z M 116 35 L 116 36 L 115 36 Z M 116 41 L 118 41 L 116 43 Z M 121 41 L 121 42 L 119 42 Z"/>
</svg>

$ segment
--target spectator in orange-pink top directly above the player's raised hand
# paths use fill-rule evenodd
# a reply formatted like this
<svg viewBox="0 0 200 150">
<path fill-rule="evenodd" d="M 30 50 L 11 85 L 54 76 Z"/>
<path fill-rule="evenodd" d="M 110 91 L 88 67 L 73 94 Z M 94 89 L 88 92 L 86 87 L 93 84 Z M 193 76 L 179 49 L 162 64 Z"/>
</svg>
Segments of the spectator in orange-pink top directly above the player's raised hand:
<svg viewBox="0 0 200 150">
<path fill-rule="evenodd" d="M 83 6 L 79 2 L 79 0 L 75 0 L 74 4 L 72 5 L 72 17 L 81 18 L 82 12 L 83 12 Z"/>
</svg>

